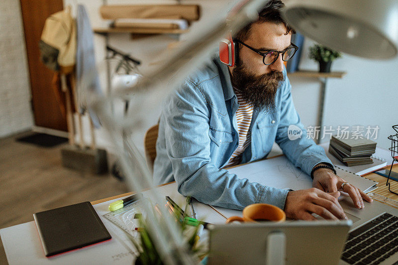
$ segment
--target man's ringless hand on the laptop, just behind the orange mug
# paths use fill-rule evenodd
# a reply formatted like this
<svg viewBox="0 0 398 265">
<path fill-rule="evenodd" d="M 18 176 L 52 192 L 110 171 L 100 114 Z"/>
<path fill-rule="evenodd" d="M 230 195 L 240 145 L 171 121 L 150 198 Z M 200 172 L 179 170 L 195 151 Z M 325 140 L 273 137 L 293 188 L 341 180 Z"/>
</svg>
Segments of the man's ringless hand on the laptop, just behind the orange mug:
<svg viewBox="0 0 398 265">
<path fill-rule="evenodd" d="M 333 196 L 332 196 L 333 195 Z M 328 194 L 318 188 L 289 191 L 286 197 L 286 217 L 291 219 L 316 220 L 311 213 L 325 219 L 347 219 L 337 198 L 340 192 Z"/>
</svg>

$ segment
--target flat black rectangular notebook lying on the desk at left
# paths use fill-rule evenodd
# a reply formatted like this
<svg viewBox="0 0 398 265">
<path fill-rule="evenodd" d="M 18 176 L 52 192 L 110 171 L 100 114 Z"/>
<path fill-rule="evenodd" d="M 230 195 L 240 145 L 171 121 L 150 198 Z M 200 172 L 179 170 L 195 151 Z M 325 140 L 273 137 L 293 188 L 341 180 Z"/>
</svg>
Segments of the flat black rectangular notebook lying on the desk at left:
<svg viewBox="0 0 398 265">
<path fill-rule="evenodd" d="M 89 201 L 38 212 L 33 217 L 46 257 L 112 238 Z"/>
</svg>

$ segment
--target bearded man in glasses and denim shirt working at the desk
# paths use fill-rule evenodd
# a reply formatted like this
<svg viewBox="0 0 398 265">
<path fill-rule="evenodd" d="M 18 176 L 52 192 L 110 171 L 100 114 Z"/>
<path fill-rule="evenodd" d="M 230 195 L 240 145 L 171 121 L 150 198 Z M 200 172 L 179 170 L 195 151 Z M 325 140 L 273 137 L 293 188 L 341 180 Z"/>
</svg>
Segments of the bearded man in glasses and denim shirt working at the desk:
<svg viewBox="0 0 398 265">
<path fill-rule="evenodd" d="M 335 175 L 323 149 L 307 139 L 293 104 L 284 61 L 297 46 L 294 31 L 280 15 L 283 3 L 269 1 L 259 19 L 235 35 L 235 66 L 214 58 L 186 79 L 165 101 L 159 122 L 154 180 L 176 180 L 178 191 L 203 203 L 243 209 L 268 203 L 285 210 L 292 219 L 345 219 L 337 197 L 345 182 Z M 288 127 L 302 130 L 290 140 Z M 265 158 L 276 142 L 286 157 L 313 177 L 313 188 L 288 191 L 236 176 L 225 168 Z M 265 168 L 264 171 L 267 169 Z M 358 188 L 344 191 L 357 208 L 363 198 Z"/>
</svg>

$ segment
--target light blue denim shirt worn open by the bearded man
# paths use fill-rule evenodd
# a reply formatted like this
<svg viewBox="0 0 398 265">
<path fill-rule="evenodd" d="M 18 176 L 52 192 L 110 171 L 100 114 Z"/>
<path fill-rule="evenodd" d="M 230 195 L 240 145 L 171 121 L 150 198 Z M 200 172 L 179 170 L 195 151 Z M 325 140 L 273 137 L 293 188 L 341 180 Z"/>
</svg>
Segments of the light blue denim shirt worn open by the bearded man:
<svg viewBox="0 0 398 265">
<path fill-rule="evenodd" d="M 241 163 L 265 158 L 275 141 L 296 167 L 310 174 L 316 164 L 332 163 L 322 147 L 306 139 L 286 69 L 283 73 L 285 81 L 277 90 L 276 108 L 253 113 L 251 144 Z M 164 102 L 159 122 L 155 184 L 176 180 L 182 195 L 230 209 L 243 209 L 252 203 L 284 209 L 287 190 L 249 182 L 245 176 L 222 169 L 238 147 L 238 107 L 228 67 L 217 58 L 173 91 Z M 302 130 L 300 138 L 289 139 L 290 125 Z"/>
</svg>

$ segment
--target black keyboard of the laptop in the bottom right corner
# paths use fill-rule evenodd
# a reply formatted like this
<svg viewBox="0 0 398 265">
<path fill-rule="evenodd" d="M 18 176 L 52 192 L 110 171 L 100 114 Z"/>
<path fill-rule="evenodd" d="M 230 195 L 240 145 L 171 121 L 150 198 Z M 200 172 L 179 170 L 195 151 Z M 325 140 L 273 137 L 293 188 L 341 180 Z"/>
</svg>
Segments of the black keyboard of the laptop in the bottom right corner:
<svg viewBox="0 0 398 265">
<path fill-rule="evenodd" d="M 348 234 L 341 259 L 349 264 L 380 264 L 398 252 L 398 217 L 385 213 Z"/>
</svg>

